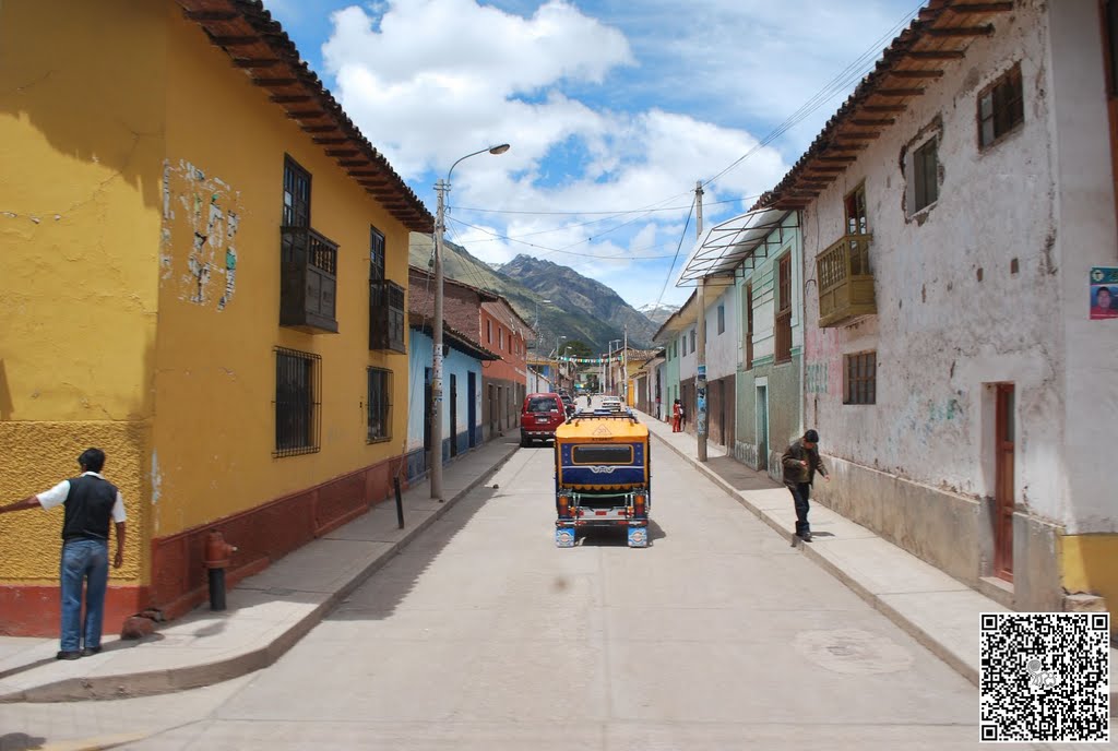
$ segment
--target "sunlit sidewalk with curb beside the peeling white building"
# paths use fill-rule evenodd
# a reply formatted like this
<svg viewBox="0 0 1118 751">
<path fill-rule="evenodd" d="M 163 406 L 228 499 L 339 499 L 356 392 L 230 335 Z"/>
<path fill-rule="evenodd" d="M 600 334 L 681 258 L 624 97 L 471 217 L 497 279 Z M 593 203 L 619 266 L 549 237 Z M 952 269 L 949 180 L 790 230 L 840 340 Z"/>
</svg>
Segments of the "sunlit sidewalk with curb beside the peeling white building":
<svg viewBox="0 0 1118 751">
<path fill-rule="evenodd" d="M 650 432 L 792 544 L 796 514 L 783 485 L 727 456 L 714 443 L 708 445 L 707 463 L 700 463 L 693 435 L 672 432 L 671 425 L 637 413 Z M 799 543 L 805 555 L 978 684 L 978 614 L 1010 612 L 1007 608 L 817 503 L 812 504 L 812 533 L 813 542 Z M 1110 662 L 1118 665 L 1118 650 L 1110 650 Z M 1116 711 L 1118 695 L 1112 691 L 1111 716 Z"/>
</svg>

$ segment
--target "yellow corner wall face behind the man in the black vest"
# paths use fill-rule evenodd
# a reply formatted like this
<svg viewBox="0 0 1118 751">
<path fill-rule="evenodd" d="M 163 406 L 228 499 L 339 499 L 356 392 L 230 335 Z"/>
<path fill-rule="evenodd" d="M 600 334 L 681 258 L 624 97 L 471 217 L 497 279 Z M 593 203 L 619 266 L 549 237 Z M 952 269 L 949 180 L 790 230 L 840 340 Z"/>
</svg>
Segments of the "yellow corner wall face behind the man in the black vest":
<svg viewBox="0 0 1118 751">
<path fill-rule="evenodd" d="M 163 3 L 0 3 L 0 503 L 101 446 L 146 577 Z M 0 583 L 57 581 L 61 511 L 0 517 Z"/>
</svg>

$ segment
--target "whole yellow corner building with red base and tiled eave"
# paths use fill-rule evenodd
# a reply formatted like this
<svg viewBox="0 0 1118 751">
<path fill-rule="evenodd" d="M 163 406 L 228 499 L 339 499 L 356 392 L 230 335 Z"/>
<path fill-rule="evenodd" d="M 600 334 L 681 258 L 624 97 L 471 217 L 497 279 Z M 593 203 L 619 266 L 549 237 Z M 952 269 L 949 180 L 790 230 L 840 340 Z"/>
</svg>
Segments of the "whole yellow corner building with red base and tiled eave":
<svg viewBox="0 0 1118 751">
<path fill-rule="evenodd" d="M 366 511 L 407 439 L 415 193 L 256 3 L 0 4 L 0 502 L 129 512 L 106 630 Z M 54 634 L 60 513 L 0 517 L 0 633 Z"/>
</svg>

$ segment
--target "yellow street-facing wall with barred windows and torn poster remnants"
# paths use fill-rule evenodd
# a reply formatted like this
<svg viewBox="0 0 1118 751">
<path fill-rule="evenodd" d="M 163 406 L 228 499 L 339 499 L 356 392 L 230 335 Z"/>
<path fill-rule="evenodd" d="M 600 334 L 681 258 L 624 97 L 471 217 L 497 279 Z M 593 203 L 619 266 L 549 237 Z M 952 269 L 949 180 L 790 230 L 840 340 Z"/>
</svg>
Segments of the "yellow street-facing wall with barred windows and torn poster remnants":
<svg viewBox="0 0 1118 751">
<path fill-rule="evenodd" d="M 368 349 L 369 227 L 386 235 L 387 275 L 401 286 L 407 230 L 181 15 L 171 18 L 168 53 L 169 194 L 155 346 L 157 538 L 399 456 L 407 437 L 407 355 Z M 285 153 L 312 174 L 312 227 L 340 245 L 338 334 L 278 324 Z M 216 231 L 209 227 L 210 202 L 226 217 Z M 230 210 L 238 216 L 231 239 Z M 193 253 L 199 228 L 216 245 Z M 229 246 L 237 254 L 235 291 L 222 306 Z M 211 265 L 200 297 L 192 255 Z M 276 345 L 322 357 L 316 454 L 272 457 Z M 366 444 L 369 365 L 395 371 L 392 440 L 385 444 Z"/>
</svg>

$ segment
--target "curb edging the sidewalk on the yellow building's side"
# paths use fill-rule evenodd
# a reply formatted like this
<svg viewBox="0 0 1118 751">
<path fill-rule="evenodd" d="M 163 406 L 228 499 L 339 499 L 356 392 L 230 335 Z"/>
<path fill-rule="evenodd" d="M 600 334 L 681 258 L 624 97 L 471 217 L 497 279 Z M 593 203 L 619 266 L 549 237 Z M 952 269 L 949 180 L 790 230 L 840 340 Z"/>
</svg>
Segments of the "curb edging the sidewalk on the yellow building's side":
<svg viewBox="0 0 1118 751">
<path fill-rule="evenodd" d="M 164 671 L 150 671 L 145 673 L 127 673 L 122 675 L 66 678 L 34 688 L 4 694 L 0 696 L 0 704 L 12 704 L 20 702 L 48 703 L 48 702 L 76 702 L 91 700 L 114 700 L 133 698 L 136 696 L 152 696 L 189 688 L 201 688 L 202 686 L 222 683 L 233 678 L 259 671 L 275 663 L 280 657 L 299 643 L 311 629 L 322 622 L 322 619 L 342 600 L 348 598 L 353 591 L 363 584 L 369 577 L 381 569 L 388 561 L 404 551 L 420 533 L 434 524 L 455 505 L 458 501 L 467 496 L 479 485 L 485 483 L 496 474 L 519 448 L 510 444 L 511 450 L 498 459 L 498 462 L 477 476 L 476 479 L 466 485 L 453 497 L 436 508 L 427 519 L 413 527 L 402 539 L 394 543 L 391 548 L 381 553 L 372 563 L 362 569 L 350 581 L 345 582 L 338 591 L 333 592 L 324 602 L 309 612 L 286 631 L 277 636 L 266 646 L 236 657 L 206 663 L 202 665 L 191 665 Z"/>
</svg>

